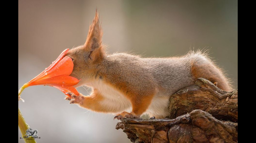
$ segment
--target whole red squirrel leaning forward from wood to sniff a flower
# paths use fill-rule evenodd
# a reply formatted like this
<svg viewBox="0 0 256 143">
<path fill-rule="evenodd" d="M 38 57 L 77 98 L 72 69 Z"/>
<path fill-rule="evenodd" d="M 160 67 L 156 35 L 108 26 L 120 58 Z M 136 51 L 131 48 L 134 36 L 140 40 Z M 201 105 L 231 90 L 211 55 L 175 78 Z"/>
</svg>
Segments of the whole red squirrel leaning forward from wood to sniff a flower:
<svg viewBox="0 0 256 143">
<path fill-rule="evenodd" d="M 190 51 L 184 56 L 142 58 L 127 53 L 107 54 L 102 44 L 98 12 L 90 25 L 84 45 L 68 51 L 74 69 L 71 76 L 80 79 L 76 87 L 92 88 L 89 96 L 66 97 L 71 104 L 95 112 L 115 113 L 114 119 L 169 115 L 169 98 L 179 89 L 205 78 L 222 90 L 231 91 L 223 71 L 206 53 Z M 129 109 L 132 111 L 125 112 Z"/>
</svg>

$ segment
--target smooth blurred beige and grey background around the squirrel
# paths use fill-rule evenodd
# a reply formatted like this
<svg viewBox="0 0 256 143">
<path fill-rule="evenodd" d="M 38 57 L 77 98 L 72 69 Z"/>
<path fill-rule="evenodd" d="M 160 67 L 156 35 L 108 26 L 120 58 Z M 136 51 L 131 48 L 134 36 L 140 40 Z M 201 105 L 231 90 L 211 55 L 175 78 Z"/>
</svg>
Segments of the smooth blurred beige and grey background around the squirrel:
<svg viewBox="0 0 256 143">
<path fill-rule="evenodd" d="M 48 67 L 66 48 L 84 44 L 89 24 L 100 12 L 107 51 L 144 57 L 176 56 L 190 48 L 211 57 L 238 88 L 237 1 L 18 1 L 18 89 Z M 86 89 L 78 91 L 87 95 Z M 18 102 L 37 142 L 130 142 L 114 115 L 71 105 L 49 86 L 32 86 Z M 18 130 L 18 136 L 21 133 Z M 18 139 L 19 142 L 24 142 Z"/>
</svg>

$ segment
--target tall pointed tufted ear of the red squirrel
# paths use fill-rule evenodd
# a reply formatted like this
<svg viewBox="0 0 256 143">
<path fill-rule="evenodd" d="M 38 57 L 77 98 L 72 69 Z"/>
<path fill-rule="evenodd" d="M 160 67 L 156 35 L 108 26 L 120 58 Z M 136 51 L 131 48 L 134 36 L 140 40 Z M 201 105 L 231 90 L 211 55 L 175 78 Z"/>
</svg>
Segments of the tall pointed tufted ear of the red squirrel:
<svg viewBox="0 0 256 143">
<path fill-rule="evenodd" d="M 92 21 L 92 24 L 90 25 L 86 42 L 84 44 L 85 50 L 92 52 L 96 49 L 101 49 L 102 34 L 103 32 L 100 26 L 99 15 L 96 9 L 95 17 Z"/>
</svg>

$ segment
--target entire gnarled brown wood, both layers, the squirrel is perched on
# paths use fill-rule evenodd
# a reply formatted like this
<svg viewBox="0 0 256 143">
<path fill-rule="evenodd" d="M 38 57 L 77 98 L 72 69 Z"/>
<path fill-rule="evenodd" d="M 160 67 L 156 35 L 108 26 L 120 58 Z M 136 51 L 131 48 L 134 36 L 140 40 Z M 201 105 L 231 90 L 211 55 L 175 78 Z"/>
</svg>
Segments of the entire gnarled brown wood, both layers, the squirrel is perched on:
<svg viewBox="0 0 256 143">
<path fill-rule="evenodd" d="M 199 78 L 170 97 L 169 119 L 122 119 L 132 142 L 237 142 L 238 91 Z"/>
</svg>

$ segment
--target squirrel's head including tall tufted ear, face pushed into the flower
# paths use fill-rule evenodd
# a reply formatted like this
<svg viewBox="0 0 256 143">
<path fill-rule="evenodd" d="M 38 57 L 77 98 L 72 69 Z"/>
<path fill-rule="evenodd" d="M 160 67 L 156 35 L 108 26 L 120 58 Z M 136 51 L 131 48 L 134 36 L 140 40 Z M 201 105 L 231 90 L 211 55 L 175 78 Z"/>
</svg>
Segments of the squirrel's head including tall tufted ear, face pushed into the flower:
<svg viewBox="0 0 256 143">
<path fill-rule="evenodd" d="M 99 69 L 98 65 L 104 58 L 102 34 L 99 15 L 96 10 L 85 44 L 69 50 L 66 55 L 73 60 L 74 68 L 70 76 L 80 80 L 80 84 L 77 86 L 90 81 Z"/>
</svg>

